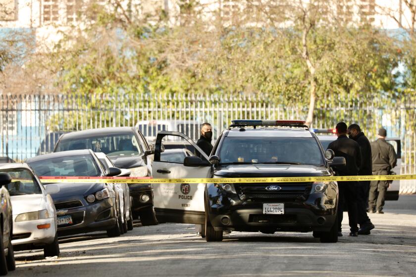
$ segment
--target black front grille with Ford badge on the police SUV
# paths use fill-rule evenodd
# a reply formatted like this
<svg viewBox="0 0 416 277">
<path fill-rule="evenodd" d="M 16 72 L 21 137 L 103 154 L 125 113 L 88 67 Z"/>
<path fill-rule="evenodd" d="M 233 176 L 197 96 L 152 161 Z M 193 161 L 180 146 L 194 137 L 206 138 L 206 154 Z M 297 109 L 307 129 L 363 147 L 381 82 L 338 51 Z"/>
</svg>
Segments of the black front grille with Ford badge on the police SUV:
<svg viewBox="0 0 416 277">
<path fill-rule="evenodd" d="M 279 191 L 267 191 L 269 185 L 278 185 Z M 282 184 L 239 184 L 236 189 L 239 194 L 244 194 L 246 199 L 252 201 L 288 200 L 305 201 L 311 193 L 312 183 L 282 183 Z"/>
</svg>

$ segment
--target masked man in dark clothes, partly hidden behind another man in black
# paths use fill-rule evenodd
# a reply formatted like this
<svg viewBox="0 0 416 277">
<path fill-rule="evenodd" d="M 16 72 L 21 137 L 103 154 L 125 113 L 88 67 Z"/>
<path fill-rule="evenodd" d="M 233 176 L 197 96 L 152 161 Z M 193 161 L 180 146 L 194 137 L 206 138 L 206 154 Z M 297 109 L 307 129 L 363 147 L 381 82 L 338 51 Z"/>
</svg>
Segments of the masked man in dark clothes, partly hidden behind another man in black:
<svg viewBox="0 0 416 277">
<path fill-rule="evenodd" d="M 358 175 L 372 175 L 372 157 L 370 141 L 365 137 L 358 124 L 351 124 L 348 127 L 348 135 L 350 139 L 357 141 L 361 150 L 361 168 Z M 356 183 L 357 192 L 357 219 L 360 224 L 359 234 L 370 234 L 370 230 L 374 229 L 374 225 L 367 216 L 368 192 L 370 190 L 370 181 L 360 181 Z"/>
</svg>

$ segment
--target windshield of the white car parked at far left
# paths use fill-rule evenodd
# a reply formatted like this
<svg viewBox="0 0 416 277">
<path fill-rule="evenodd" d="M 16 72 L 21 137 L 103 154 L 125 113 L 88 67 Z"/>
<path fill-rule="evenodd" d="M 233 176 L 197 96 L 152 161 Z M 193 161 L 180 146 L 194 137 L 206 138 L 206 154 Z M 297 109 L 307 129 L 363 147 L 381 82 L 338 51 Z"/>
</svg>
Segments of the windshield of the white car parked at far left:
<svg viewBox="0 0 416 277">
<path fill-rule="evenodd" d="M 25 194 L 41 194 L 42 190 L 33 174 L 25 168 L 0 169 L 10 174 L 11 183 L 6 185 L 10 196 Z"/>
</svg>

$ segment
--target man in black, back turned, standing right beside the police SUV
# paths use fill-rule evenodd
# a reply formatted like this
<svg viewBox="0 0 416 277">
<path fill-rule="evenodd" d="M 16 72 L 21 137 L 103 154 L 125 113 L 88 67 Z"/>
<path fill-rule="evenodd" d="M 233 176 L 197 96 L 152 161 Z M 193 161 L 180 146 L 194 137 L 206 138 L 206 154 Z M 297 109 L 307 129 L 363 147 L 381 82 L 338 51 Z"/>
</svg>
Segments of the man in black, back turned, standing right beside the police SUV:
<svg viewBox="0 0 416 277">
<path fill-rule="evenodd" d="M 361 167 L 361 150 L 357 142 L 347 138 L 347 124 L 340 122 L 335 127 L 338 139 L 328 145 L 337 157 L 344 157 L 346 165 L 336 167 L 336 176 L 358 175 Z M 343 218 L 344 201 L 348 207 L 348 219 L 350 224 L 350 236 L 358 236 L 357 225 L 357 193 L 356 182 L 338 182 L 339 201 L 338 201 L 338 236 L 342 236 L 341 223 Z"/>
</svg>

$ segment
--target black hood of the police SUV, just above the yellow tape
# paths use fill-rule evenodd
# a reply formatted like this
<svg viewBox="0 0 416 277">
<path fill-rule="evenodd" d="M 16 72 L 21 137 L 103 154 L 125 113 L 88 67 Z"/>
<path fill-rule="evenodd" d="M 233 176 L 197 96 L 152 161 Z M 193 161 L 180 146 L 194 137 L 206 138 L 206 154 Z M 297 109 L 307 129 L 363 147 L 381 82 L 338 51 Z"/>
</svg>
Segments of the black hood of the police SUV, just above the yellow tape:
<svg viewBox="0 0 416 277">
<path fill-rule="evenodd" d="M 330 176 L 326 167 L 312 165 L 244 164 L 219 165 L 215 177 L 320 177 Z"/>
</svg>

